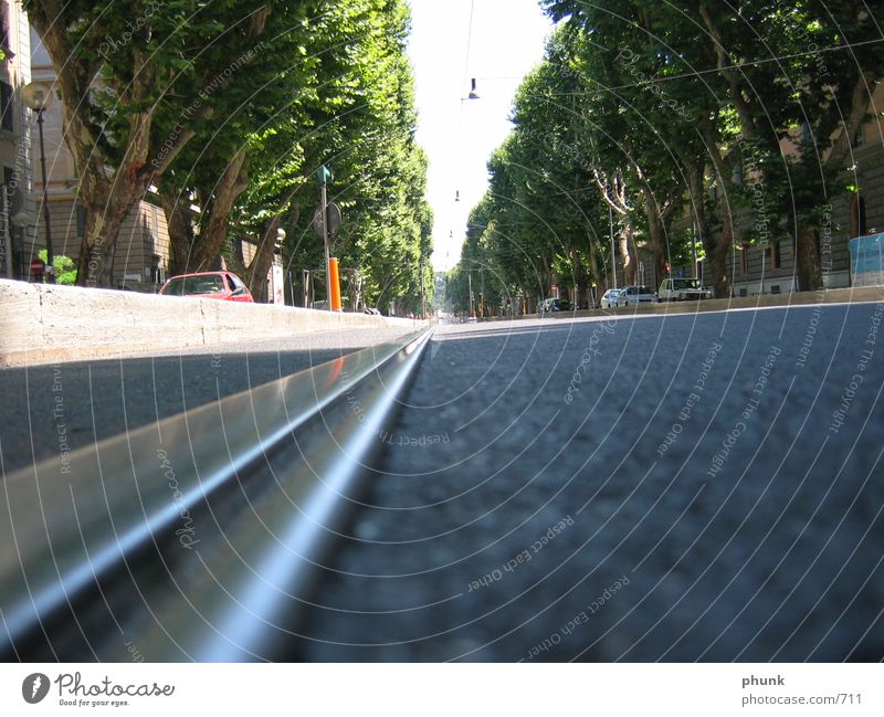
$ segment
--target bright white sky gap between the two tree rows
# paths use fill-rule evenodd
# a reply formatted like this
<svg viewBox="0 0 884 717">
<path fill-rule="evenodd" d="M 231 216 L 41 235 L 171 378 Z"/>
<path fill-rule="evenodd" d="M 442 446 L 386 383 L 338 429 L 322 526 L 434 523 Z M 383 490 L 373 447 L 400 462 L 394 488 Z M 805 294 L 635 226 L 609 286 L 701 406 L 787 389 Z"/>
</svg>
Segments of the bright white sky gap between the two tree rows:
<svg viewBox="0 0 884 717">
<path fill-rule="evenodd" d="M 470 210 L 487 188 L 485 164 L 512 128 L 513 96 L 543 59 L 551 23 L 537 0 L 411 0 L 411 9 L 418 143 L 430 157 L 435 214 L 433 266 L 445 271 L 460 259 Z M 472 77 L 481 99 L 464 102 Z"/>
</svg>

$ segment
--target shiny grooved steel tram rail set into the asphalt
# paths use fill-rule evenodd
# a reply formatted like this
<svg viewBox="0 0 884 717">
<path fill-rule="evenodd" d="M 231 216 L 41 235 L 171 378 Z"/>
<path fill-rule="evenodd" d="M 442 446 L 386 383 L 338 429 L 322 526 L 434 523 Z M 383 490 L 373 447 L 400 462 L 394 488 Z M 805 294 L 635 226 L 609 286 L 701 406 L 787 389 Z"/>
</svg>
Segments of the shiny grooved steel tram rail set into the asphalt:
<svg viewBox="0 0 884 717">
<path fill-rule="evenodd" d="M 285 656 L 430 335 L 6 476 L 0 654 Z"/>
</svg>

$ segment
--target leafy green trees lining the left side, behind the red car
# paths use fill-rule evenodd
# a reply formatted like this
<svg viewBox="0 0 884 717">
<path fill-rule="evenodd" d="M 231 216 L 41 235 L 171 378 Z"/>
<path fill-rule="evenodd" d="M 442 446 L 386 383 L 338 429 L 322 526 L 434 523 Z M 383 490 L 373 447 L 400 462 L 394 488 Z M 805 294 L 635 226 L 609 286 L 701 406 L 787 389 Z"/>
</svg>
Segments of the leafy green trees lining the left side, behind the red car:
<svg viewBox="0 0 884 717">
<path fill-rule="evenodd" d="M 312 177 L 327 164 L 345 215 L 333 251 L 368 300 L 413 309 L 421 272 L 432 286 L 404 0 L 24 6 L 57 73 L 86 212 L 77 284 L 110 284 L 120 226 L 151 188 L 176 273 L 223 255 L 262 296 L 280 228 L 288 266 L 318 270 Z"/>
</svg>

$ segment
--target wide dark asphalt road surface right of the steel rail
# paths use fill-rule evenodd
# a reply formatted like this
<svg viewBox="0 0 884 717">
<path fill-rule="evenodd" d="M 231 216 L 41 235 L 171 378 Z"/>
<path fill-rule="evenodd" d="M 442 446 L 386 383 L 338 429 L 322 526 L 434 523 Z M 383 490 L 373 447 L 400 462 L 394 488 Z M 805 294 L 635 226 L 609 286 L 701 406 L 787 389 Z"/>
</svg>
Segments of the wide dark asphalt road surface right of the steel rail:
<svg viewBox="0 0 884 717">
<path fill-rule="evenodd" d="M 291 658 L 884 658 L 882 321 L 440 327 Z"/>
</svg>

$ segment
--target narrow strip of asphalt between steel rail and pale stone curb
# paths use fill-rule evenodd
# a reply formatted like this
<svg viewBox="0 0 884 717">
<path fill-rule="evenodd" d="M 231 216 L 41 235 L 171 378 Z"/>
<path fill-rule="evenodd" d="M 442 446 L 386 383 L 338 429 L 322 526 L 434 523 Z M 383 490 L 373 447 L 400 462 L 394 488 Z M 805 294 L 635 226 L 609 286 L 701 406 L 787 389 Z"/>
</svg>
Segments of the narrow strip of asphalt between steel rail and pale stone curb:
<svg viewBox="0 0 884 717">
<path fill-rule="evenodd" d="M 407 333 L 409 329 L 401 327 L 349 328 L 225 344 L 209 354 L 204 349 L 160 348 L 152 356 L 2 369 L 0 473 Z"/>
</svg>

